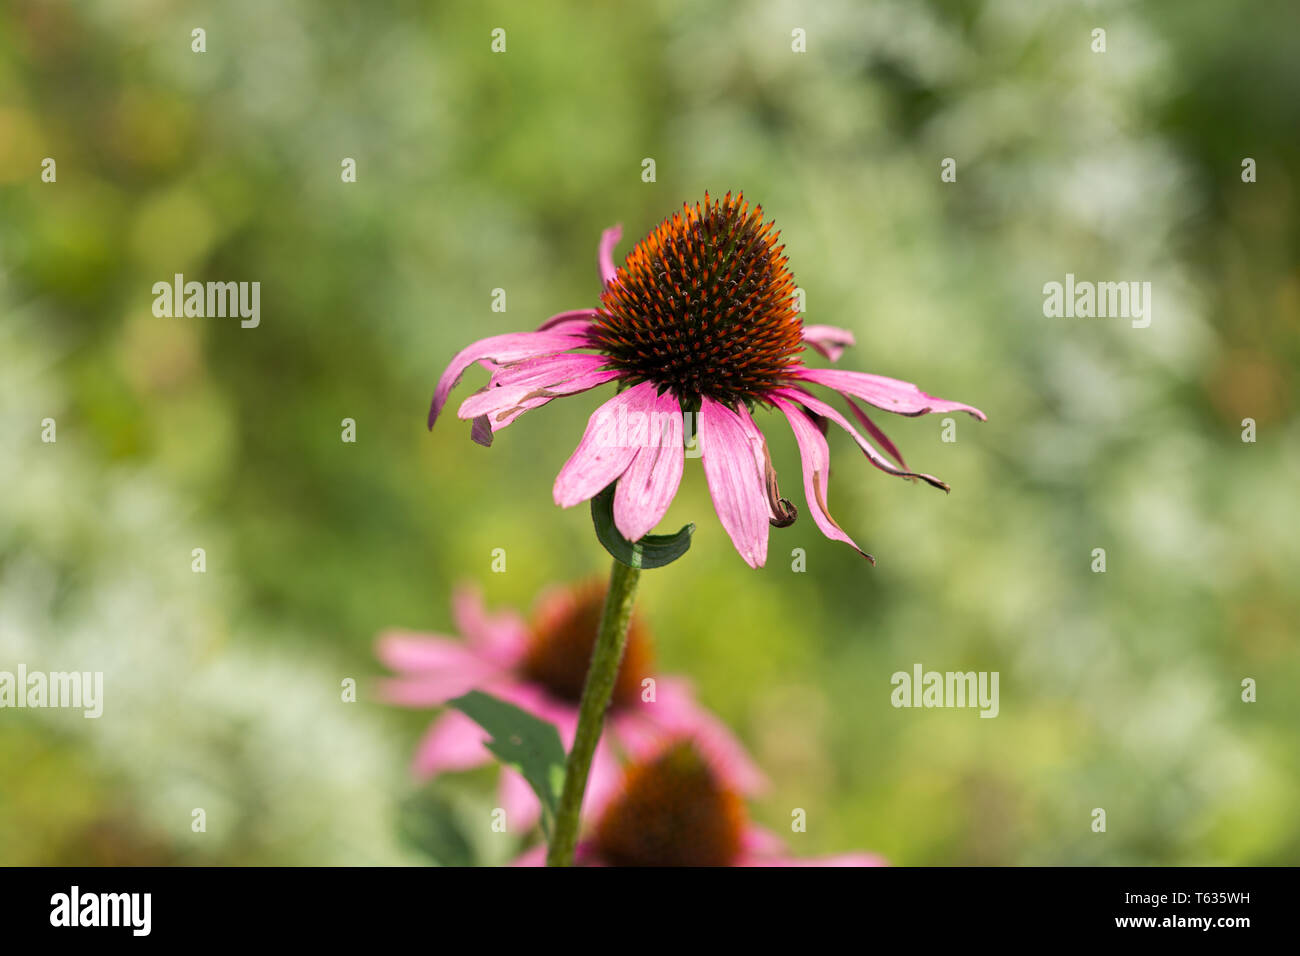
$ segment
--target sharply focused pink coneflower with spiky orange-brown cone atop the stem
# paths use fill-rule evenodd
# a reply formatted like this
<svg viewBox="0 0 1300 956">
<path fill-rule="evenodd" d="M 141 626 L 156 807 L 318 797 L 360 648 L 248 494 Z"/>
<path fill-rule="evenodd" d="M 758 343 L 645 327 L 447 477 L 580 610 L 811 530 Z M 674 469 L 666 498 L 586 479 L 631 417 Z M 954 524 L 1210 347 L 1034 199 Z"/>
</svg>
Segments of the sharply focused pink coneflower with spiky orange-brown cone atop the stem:
<svg viewBox="0 0 1300 956">
<path fill-rule="evenodd" d="M 429 428 L 460 375 L 476 362 L 491 371 L 491 378 L 456 414 L 473 421 L 471 434 L 484 445 L 552 398 L 618 382 L 621 390 L 592 415 L 555 479 L 554 497 L 571 507 L 618 481 L 614 522 L 636 541 L 659 523 L 677 492 L 684 467 L 681 419 L 692 412 L 718 518 L 753 567 L 767 558 L 768 525 L 794 520 L 751 416 L 759 406 L 781 412 L 794 429 L 803 490 L 818 528 L 868 559 L 827 509 L 827 421 L 849 432 L 881 471 L 948 490 L 932 475 L 907 471 L 898 449 L 854 399 L 897 415 L 965 411 L 983 420 L 984 412 L 897 378 L 805 365 L 805 346 L 833 362 L 853 336 L 829 325 L 803 325 L 794 308 L 794 278 L 781 255 L 785 247 L 776 245 L 780 234 L 774 222 L 763 221 L 762 207 L 750 209 L 742 195 L 733 199 L 728 193 L 719 202 L 706 193 L 702 204 L 686 204 L 660 222 L 615 268 L 612 251 L 620 237 L 619 226 L 601 237 L 601 307 L 562 312 L 537 332 L 493 336 L 462 350 L 438 380 Z M 870 440 L 810 386 L 838 393 Z M 663 423 L 658 429 L 663 433 L 644 429 L 638 440 L 611 442 L 610 424 L 628 418 Z"/>
</svg>

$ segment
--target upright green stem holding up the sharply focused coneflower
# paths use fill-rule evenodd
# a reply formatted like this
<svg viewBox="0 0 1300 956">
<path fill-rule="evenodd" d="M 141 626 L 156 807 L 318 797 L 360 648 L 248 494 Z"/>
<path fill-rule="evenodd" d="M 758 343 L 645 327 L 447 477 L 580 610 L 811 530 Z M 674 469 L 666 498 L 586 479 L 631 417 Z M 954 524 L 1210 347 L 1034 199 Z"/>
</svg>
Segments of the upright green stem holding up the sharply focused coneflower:
<svg viewBox="0 0 1300 956">
<path fill-rule="evenodd" d="M 641 571 L 628 567 L 621 561 L 615 561 L 610 570 L 610 589 L 604 594 L 601 630 L 595 635 L 592 663 L 586 671 L 586 683 L 582 685 L 573 749 L 569 750 L 564 765 L 564 790 L 560 793 L 559 809 L 555 812 L 555 831 L 546 853 L 547 866 L 573 865 L 586 777 L 592 770 L 592 756 L 601 740 L 601 731 L 604 728 L 604 711 L 614 695 L 619 665 L 623 663 L 623 650 L 628 645 L 628 623 L 632 620 L 632 605 L 637 600 L 640 579 Z"/>
</svg>

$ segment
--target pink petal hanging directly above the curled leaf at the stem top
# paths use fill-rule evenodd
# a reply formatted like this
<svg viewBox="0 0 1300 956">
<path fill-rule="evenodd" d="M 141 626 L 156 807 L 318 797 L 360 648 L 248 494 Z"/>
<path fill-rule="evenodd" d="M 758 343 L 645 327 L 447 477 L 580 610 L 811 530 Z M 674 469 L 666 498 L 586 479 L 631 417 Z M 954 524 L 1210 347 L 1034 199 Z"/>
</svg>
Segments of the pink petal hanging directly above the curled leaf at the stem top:
<svg viewBox="0 0 1300 956">
<path fill-rule="evenodd" d="M 647 442 L 614 489 L 614 524 L 628 541 L 637 541 L 663 520 L 685 464 L 681 445 L 681 406 L 671 392 L 653 399 Z"/>
</svg>

